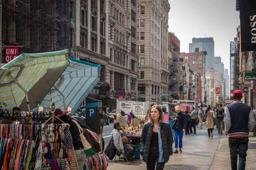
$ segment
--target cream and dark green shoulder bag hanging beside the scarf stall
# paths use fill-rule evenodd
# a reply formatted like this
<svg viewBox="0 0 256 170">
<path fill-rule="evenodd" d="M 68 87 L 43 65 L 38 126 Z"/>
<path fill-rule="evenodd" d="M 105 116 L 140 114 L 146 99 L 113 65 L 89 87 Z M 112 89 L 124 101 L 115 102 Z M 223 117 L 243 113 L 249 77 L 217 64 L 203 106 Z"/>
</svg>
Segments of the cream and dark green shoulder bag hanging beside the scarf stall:
<svg viewBox="0 0 256 170">
<path fill-rule="evenodd" d="M 82 142 L 82 145 L 84 147 L 85 153 L 87 156 L 91 156 L 95 153 L 94 147 L 91 146 L 91 144 L 88 142 L 88 140 L 85 138 L 83 135 L 83 129 L 82 127 L 77 123 L 77 121 L 73 120 L 73 122 L 77 125 L 78 130 L 79 130 L 79 138 Z"/>
</svg>

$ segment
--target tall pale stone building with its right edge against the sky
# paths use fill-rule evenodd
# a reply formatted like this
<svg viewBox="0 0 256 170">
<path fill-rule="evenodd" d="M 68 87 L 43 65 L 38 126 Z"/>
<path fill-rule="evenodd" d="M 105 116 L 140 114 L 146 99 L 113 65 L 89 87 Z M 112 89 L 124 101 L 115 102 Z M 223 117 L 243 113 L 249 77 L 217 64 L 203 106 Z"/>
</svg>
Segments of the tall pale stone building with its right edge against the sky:
<svg viewBox="0 0 256 170">
<path fill-rule="evenodd" d="M 168 92 L 168 0 L 138 0 L 138 101 Z"/>
</svg>

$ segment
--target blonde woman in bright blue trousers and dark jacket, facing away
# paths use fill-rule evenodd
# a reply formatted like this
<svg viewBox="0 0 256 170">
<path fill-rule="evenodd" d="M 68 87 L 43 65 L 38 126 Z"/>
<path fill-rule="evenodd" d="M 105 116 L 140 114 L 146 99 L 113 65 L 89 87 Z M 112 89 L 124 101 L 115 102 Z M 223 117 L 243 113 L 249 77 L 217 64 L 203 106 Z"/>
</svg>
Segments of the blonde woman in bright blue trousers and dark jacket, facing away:
<svg viewBox="0 0 256 170">
<path fill-rule="evenodd" d="M 174 153 L 182 153 L 182 138 L 183 138 L 183 133 L 185 132 L 185 129 L 187 127 L 187 121 L 186 121 L 186 116 L 185 114 L 182 113 L 182 108 L 177 105 L 175 106 L 175 116 L 174 116 L 174 121 L 176 120 L 176 123 L 174 125 L 174 147 L 175 151 Z M 179 140 L 179 152 L 178 152 L 178 140 Z"/>
</svg>

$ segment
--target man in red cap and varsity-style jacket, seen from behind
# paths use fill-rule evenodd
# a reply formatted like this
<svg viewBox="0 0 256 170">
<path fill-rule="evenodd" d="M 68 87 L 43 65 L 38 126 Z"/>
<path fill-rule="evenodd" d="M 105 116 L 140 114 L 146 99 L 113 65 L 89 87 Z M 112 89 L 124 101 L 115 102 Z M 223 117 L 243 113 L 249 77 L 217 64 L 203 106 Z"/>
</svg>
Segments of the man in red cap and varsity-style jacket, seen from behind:
<svg viewBox="0 0 256 170">
<path fill-rule="evenodd" d="M 238 170 L 245 169 L 249 132 L 253 130 L 255 118 L 249 105 L 241 102 L 243 94 L 240 90 L 233 92 L 234 102 L 225 107 L 224 123 L 229 136 L 231 169 L 237 170 L 237 155 L 239 155 Z"/>
</svg>

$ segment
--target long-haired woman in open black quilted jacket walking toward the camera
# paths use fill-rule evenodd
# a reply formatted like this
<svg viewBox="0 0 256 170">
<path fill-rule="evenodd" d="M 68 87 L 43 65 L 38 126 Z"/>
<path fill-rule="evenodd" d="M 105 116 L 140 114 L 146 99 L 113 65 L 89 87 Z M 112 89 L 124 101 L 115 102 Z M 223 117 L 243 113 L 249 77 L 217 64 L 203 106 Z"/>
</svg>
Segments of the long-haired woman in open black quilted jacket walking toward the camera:
<svg viewBox="0 0 256 170">
<path fill-rule="evenodd" d="M 162 109 L 153 105 L 149 111 L 148 122 L 143 125 L 141 133 L 141 150 L 147 170 L 163 170 L 172 150 L 173 136 L 171 127 L 164 122 Z"/>
</svg>

